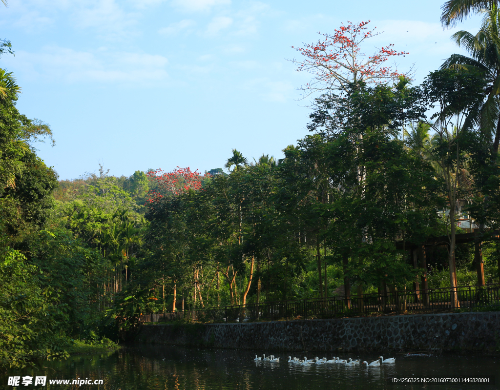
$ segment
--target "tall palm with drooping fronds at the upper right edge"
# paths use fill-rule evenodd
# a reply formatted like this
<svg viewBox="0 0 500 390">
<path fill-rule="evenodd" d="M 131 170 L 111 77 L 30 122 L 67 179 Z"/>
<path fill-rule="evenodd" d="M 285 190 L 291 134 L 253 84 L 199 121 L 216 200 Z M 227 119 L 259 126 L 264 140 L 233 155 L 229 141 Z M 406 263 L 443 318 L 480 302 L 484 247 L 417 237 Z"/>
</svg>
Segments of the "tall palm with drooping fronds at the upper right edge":
<svg viewBox="0 0 500 390">
<path fill-rule="evenodd" d="M 452 35 L 458 46 L 464 46 L 470 57 L 452 54 L 441 68 L 454 68 L 481 74 L 488 84 L 488 97 L 480 112 L 481 128 L 494 135 L 493 155 L 500 141 L 500 11 L 495 4 L 482 9 L 484 18 L 477 34 L 458 31 Z"/>
</svg>

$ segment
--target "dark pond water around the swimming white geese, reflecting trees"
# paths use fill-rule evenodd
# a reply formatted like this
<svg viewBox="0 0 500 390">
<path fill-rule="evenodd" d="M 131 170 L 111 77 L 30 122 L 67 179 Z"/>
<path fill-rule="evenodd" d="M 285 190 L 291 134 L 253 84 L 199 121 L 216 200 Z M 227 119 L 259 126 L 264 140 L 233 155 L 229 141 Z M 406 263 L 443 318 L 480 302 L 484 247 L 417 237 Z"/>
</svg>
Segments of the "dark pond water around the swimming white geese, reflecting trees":
<svg viewBox="0 0 500 390">
<path fill-rule="evenodd" d="M 275 354 L 279 363 L 253 361 L 255 353 Z M 287 356 L 320 358 L 330 353 L 278 353 L 275 351 L 249 351 L 224 349 L 196 349 L 165 345 L 125 345 L 119 351 L 107 354 L 75 355 L 62 362 L 44 362 L 37 369 L 10 369 L 0 376 L 0 388 L 90 388 L 106 390 L 132 389 L 500 389 L 500 358 L 487 356 L 404 356 L 396 357 L 393 364 L 363 368 L 340 364 L 300 366 L 287 363 Z M 340 358 L 360 358 L 368 362 L 378 354 L 349 353 Z M 46 376 L 45 386 L 34 384 L 8 386 L 8 376 Z M 477 383 L 391 383 L 393 377 L 421 380 L 445 377 L 489 377 L 490 384 Z M 496 380 L 491 384 L 491 380 Z M 50 384 L 56 379 L 102 379 L 102 384 Z M 415 379 L 413 379 L 415 380 Z M 432 379 L 430 379 L 432 380 Z M 34 379 L 33 379 L 34 383 Z"/>
</svg>

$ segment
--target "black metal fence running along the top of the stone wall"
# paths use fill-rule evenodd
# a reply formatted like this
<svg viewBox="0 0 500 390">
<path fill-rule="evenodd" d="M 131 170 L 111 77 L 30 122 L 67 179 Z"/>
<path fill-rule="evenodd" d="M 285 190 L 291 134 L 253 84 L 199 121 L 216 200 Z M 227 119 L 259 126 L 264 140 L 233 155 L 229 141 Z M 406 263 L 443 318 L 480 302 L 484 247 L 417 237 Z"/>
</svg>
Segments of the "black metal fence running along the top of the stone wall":
<svg viewBox="0 0 500 390">
<path fill-rule="evenodd" d="M 246 305 L 200 308 L 140 315 L 141 322 L 193 320 L 239 322 L 248 320 L 349 317 L 369 313 L 447 311 L 457 308 L 499 307 L 500 284 L 427 290 L 394 290 L 329 298 L 295 299 Z"/>
</svg>

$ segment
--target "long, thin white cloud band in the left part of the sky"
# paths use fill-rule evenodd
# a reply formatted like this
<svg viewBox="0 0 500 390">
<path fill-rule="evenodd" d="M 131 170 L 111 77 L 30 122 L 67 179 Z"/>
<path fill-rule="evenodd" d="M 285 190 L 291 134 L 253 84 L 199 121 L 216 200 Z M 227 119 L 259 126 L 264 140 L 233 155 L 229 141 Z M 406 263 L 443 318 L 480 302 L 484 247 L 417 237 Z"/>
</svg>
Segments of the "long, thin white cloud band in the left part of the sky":
<svg viewBox="0 0 500 390">
<path fill-rule="evenodd" d="M 75 51 L 65 47 L 45 47 L 42 53 L 16 51 L 17 69 L 34 79 L 63 80 L 69 83 L 132 83 L 157 82 L 167 78 L 167 58 L 161 55 L 109 52 Z"/>
</svg>

